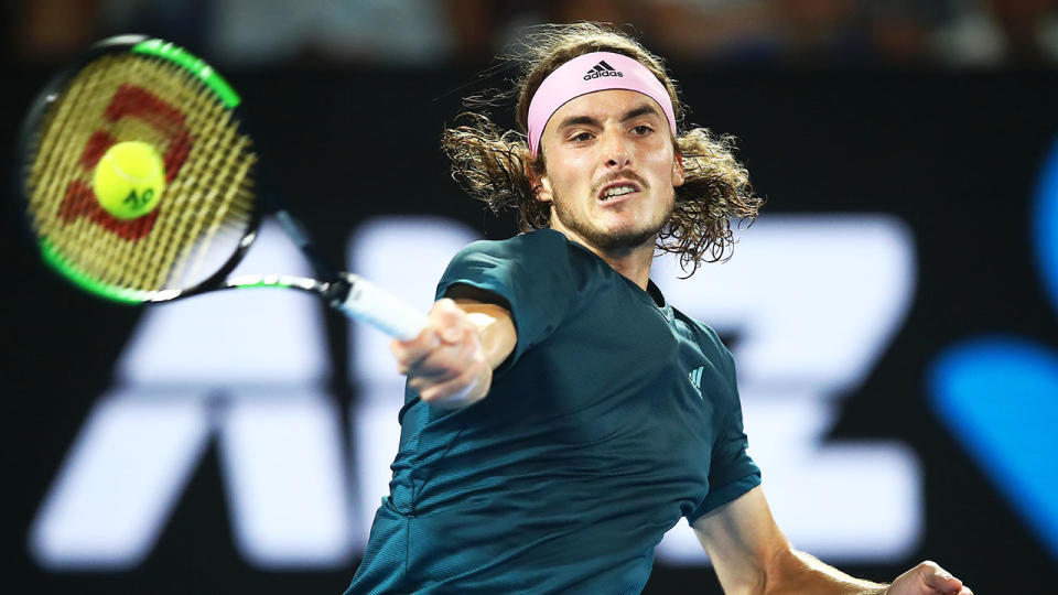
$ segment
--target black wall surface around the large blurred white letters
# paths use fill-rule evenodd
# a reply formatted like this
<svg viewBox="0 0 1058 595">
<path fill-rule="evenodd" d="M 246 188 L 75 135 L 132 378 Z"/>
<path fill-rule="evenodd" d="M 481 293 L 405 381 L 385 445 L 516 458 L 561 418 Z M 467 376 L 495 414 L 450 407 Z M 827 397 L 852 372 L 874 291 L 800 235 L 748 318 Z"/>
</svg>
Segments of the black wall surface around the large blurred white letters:
<svg viewBox="0 0 1058 595">
<path fill-rule="evenodd" d="M 54 67 L 31 62 L 0 71 L 6 177 L 19 170 L 22 113 Z M 489 237 L 514 232 L 510 217 L 461 194 L 438 150 L 478 66 L 299 63 L 225 72 L 272 164 L 266 187 L 341 261 L 348 230 L 379 214 L 440 214 Z M 892 580 L 932 559 L 979 595 L 1052 589 L 1055 559 L 937 419 L 926 374 L 946 347 L 982 334 L 1058 348 L 1058 312 L 1044 293 L 1029 227 L 1039 167 L 1058 133 L 1058 74 L 1039 64 L 785 68 L 684 60 L 672 68 L 693 108 L 689 120 L 738 138 L 767 213 L 888 213 L 915 236 L 918 285 L 908 320 L 845 401 L 832 436 L 889 437 L 914 448 L 925 473 L 924 538 L 900 564 L 844 570 Z M 17 178 L 3 182 L 11 194 L 0 232 L 9 263 L 0 292 L 4 591 L 341 592 L 355 560 L 334 572 L 277 573 L 240 559 L 213 454 L 141 566 L 55 573 L 30 558 L 30 521 L 142 311 L 93 300 L 45 270 L 21 238 Z M 345 323 L 332 315 L 328 331 L 335 393 L 348 402 L 356 394 L 344 380 Z M 720 592 L 712 571 L 657 565 L 647 587 L 694 592 Z"/>
</svg>

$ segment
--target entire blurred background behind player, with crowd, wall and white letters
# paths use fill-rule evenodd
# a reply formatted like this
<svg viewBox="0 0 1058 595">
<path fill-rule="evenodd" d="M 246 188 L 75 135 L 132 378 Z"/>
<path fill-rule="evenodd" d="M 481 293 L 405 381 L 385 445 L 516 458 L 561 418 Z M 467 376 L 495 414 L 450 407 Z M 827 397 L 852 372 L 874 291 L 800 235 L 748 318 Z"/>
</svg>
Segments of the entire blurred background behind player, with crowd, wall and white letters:
<svg viewBox="0 0 1058 595">
<path fill-rule="evenodd" d="M 739 366 L 751 454 L 791 541 L 975 593 L 1058 571 L 1058 3 L 1050 0 L 34 0 L 2 4 L 2 554 L 15 593 L 339 593 L 386 493 L 385 339 L 285 292 L 150 310 L 40 263 L 14 152 L 91 42 L 144 33 L 244 98 L 332 260 L 429 306 L 452 253 L 515 232 L 438 149 L 494 56 L 543 22 L 619 24 L 689 122 L 737 137 L 766 214 L 734 258 L 655 280 Z M 497 110 L 511 125 L 512 106 Z M 266 228 L 241 270 L 305 268 Z M 720 593 L 687 527 L 647 593 Z M 1051 585 L 1048 587 L 1047 585 Z"/>
</svg>

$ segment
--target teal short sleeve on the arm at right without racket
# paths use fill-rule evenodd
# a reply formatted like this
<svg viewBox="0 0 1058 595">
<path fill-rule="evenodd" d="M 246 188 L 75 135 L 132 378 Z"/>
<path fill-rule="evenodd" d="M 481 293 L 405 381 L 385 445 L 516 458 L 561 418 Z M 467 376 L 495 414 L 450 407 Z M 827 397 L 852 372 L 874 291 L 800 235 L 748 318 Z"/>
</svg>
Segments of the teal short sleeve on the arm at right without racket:
<svg viewBox="0 0 1058 595">
<path fill-rule="evenodd" d="M 721 412 L 725 421 L 716 431 L 709 468 L 709 493 L 694 511 L 687 516 L 693 523 L 700 517 L 760 485 L 760 468 L 753 462 L 746 448 L 749 441 L 743 430 L 742 403 L 735 381 L 734 363 L 731 354 L 723 350 L 731 387 L 731 399 L 725 400 L 727 410 Z"/>
</svg>

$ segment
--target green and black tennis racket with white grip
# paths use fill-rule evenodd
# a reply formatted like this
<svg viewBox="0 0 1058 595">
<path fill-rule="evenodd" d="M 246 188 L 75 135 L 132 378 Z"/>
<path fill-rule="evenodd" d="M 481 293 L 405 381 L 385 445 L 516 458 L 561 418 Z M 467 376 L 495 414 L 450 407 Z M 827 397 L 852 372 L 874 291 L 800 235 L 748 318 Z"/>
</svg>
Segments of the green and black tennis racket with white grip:
<svg viewBox="0 0 1058 595">
<path fill-rule="evenodd" d="M 58 73 L 30 108 L 18 163 L 28 226 L 43 260 L 77 286 L 117 302 L 288 288 L 314 293 L 393 337 L 418 336 L 425 325 L 421 312 L 326 266 L 285 209 L 258 199 L 259 160 L 240 101 L 208 64 L 141 35 L 99 42 Z M 156 206 L 132 219 L 111 215 L 93 188 L 100 160 L 125 141 L 148 143 L 164 165 Z M 316 278 L 229 277 L 266 216 L 306 255 Z"/>
</svg>

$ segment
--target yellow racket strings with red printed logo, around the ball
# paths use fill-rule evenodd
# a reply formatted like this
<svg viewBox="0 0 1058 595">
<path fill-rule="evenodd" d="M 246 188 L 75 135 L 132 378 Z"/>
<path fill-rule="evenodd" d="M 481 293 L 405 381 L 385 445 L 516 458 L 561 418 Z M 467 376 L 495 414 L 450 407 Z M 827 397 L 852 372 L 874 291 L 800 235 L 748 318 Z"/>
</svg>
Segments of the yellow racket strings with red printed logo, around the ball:
<svg viewBox="0 0 1058 595">
<path fill-rule="evenodd" d="M 131 221 L 107 214 L 91 192 L 95 163 L 126 140 L 154 145 L 169 178 L 158 208 Z M 94 61 L 61 91 L 36 142 L 28 172 L 34 229 L 64 266 L 99 283 L 145 292 L 193 285 L 250 225 L 250 139 L 208 87 L 169 62 Z"/>
</svg>

